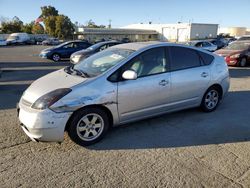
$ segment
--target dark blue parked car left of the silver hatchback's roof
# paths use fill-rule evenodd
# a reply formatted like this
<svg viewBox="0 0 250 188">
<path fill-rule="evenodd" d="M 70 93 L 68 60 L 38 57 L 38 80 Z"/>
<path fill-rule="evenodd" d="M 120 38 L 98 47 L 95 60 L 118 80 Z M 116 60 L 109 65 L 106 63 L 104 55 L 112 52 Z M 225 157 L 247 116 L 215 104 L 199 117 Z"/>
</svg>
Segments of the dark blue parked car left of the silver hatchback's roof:
<svg viewBox="0 0 250 188">
<path fill-rule="evenodd" d="M 69 41 L 62 43 L 56 47 L 47 48 L 41 51 L 40 57 L 59 61 L 60 59 L 70 58 L 71 54 L 76 51 L 86 49 L 91 44 L 86 41 Z"/>
</svg>

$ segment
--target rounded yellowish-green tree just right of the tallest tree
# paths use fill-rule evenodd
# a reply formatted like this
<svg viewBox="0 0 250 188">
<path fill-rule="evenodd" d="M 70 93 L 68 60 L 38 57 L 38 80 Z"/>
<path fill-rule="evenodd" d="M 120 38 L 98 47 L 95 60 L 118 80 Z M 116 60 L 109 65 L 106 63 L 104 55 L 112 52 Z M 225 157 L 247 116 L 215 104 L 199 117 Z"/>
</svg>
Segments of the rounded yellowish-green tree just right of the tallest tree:
<svg viewBox="0 0 250 188">
<path fill-rule="evenodd" d="M 74 25 L 65 15 L 56 16 L 56 36 L 60 39 L 72 38 Z"/>
</svg>

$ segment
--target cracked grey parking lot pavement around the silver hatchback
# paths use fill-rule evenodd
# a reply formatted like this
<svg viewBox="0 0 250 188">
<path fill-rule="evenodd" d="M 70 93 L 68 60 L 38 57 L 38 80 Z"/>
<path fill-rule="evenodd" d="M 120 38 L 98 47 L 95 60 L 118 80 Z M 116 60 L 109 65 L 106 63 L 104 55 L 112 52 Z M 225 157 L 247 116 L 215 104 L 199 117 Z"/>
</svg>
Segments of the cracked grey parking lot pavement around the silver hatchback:
<svg viewBox="0 0 250 188">
<path fill-rule="evenodd" d="M 111 130 L 98 144 L 35 143 L 15 110 L 33 80 L 68 65 L 43 46 L 0 48 L 0 187 L 250 187 L 250 67 L 230 68 L 213 113 L 166 114 Z"/>
</svg>

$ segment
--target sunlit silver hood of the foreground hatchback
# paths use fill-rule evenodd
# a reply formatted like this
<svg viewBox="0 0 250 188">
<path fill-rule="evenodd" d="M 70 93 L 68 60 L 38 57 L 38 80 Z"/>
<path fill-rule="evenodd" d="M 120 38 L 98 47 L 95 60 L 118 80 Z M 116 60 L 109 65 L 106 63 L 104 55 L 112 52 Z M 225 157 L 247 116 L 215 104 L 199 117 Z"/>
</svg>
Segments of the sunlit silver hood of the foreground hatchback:
<svg viewBox="0 0 250 188">
<path fill-rule="evenodd" d="M 22 99 L 34 103 L 39 97 L 60 88 L 71 88 L 87 78 L 67 74 L 64 69 L 47 74 L 34 81 L 24 92 Z"/>
</svg>

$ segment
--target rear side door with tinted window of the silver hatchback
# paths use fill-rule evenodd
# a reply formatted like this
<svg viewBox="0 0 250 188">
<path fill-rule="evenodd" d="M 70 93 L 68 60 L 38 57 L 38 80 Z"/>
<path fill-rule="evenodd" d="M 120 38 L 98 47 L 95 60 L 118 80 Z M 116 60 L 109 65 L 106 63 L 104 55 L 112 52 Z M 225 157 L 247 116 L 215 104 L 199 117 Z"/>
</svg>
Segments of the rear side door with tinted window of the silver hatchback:
<svg viewBox="0 0 250 188">
<path fill-rule="evenodd" d="M 199 103 L 209 81 L 209 66 L 204 66 L 196 50 L 172 46 L 171 57 L 171 103 L 172 108 L 183 108 Z"/>
</svg>

